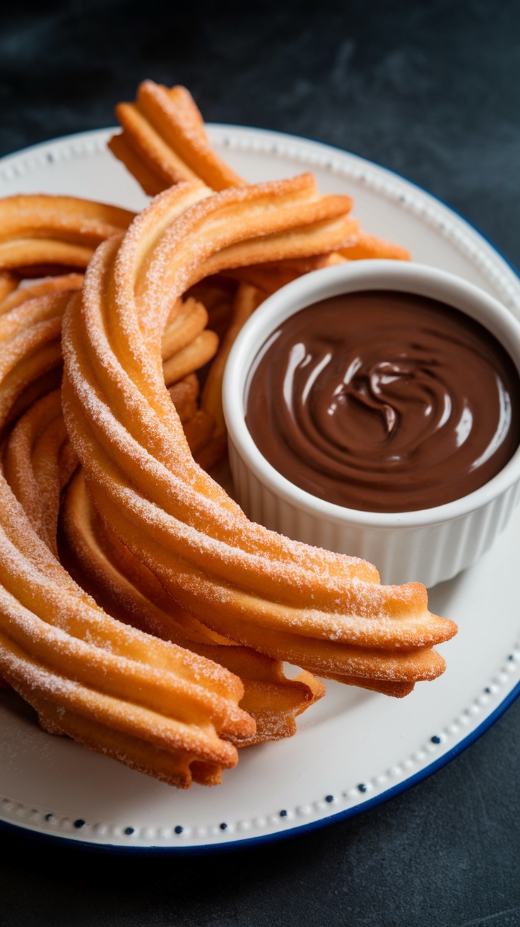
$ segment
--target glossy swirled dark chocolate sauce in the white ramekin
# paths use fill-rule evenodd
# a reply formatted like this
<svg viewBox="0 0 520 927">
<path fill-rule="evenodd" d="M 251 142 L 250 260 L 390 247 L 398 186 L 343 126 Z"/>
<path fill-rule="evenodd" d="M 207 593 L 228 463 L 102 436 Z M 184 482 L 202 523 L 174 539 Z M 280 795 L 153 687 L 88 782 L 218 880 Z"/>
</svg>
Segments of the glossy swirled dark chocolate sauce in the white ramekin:
<svg viewBox="0 0 520 927">
<path fill-rule="evenodd" d="M 520 443 L 520 379 L 486 328 L 436 299 L 350 293 L 276 329 L 249 375 L 246 422 L 301 489 L 412 512 L 483 486 Z"/>
</svg>

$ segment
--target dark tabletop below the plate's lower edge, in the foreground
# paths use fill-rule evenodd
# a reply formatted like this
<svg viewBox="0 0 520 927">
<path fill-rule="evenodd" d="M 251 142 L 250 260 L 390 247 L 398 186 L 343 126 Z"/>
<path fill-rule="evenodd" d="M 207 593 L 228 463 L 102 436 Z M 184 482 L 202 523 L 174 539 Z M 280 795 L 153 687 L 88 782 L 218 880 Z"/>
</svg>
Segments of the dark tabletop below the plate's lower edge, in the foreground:
<svg viewBox="0 0 520 927">
<path fill-rule="evenodd" d="M 0 832 L 9 927 L 517 927 L 517 701 L 434 776 L 359 818 L 212 857 L 115 857 Z"/>
</svg>

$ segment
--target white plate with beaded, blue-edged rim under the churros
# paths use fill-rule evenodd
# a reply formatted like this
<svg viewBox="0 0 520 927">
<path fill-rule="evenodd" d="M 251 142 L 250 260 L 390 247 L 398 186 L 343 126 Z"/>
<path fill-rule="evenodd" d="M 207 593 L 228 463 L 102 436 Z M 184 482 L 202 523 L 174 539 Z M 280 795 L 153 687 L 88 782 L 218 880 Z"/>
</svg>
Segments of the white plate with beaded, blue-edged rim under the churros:
<svg viewBox="0 0 520 927">
<path fill-rule="evenodd" d="M 311 170 L 323 192 L 354 197 L 363 227 L 416 260 L 483 286 L 520 317 L 520 282 L 467 222 L 395 174 L 335 148 L 279 133 L 210 126 L 247 180 Z M 0 161 L 0 196 L 61 193 L 140 210 L 146 197 L 82 133 Z M 178 792 L 76 743 L 52 737 L 13 693 L 0 694 L 0 820 L 38 836 L 117 852 L 202 852 L 254 844 L 349 817 L 409 788 L 459 753 L 520 692 L 520 514 L 474 568 L 432 591 L 457 637 L 448 669 L 399 701 L 328 683 L 295 738 L 241 753 L 216 789 Z"/>
</svg>

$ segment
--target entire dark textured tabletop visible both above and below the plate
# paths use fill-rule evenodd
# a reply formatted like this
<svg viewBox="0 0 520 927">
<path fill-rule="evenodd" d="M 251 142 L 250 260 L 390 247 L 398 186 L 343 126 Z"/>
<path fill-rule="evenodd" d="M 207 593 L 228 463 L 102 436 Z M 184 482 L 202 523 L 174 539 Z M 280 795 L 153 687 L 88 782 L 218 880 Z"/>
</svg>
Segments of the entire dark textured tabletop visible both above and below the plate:
<svg viewBox="0 0 520 927">
<path fill-rule="evenodd" d="M 144 77 L 186 83 L 209 121 L 307 135 L 400 171 L 519 266 L 519 73 L 516 0 L 11 0 L 0 155 L 113 124 Z M 102 857 L 0 832 L 0 923 L 517 927 L 519 725 L 516 702 L 387 805 L 232 856 Z"/>
</svg>

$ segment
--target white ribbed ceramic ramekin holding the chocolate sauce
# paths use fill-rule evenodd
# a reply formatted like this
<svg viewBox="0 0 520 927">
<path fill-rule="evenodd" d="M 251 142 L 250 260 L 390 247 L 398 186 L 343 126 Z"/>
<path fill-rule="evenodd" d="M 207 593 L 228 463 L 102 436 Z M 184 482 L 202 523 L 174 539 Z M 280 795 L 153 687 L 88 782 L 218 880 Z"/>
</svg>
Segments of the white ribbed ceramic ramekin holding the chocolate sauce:
<svg viewBox="0 0 520 927">
<path fill-rule="evenodd" d="M 260 306 L 230 353 L 223 408 L 235 498 L 253 521 L 317 547 L 374 563 L 383 583 L 433 586 L 488 550 L 520 497 L 520 449 L 480 489 L 436 508 L 381 514 L 316 499 L 262 456 L 245 421 L 247 375 L 261 345 L 289 315 L 320 299 L 366 289 L 431 297 L 462 310 L 501 341 L 520 372 L 520 324 L 500 302 L 451 273 L 393 260 L 356 260 L 299 277 Z"/>
</svg>

